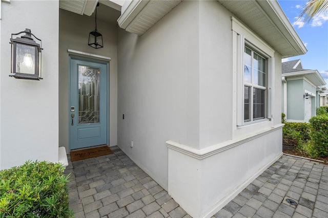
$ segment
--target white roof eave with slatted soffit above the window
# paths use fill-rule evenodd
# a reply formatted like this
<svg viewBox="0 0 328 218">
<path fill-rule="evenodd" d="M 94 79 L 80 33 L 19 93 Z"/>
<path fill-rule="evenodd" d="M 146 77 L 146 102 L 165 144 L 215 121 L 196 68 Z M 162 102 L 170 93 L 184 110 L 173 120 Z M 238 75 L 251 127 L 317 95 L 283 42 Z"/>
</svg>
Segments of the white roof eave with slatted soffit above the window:
<svg viewBox="0 0 328 218">
<path fill-rule="evenodd" d="M 282 57 L 306 53 L 305 46 L 277 1 L 218 1 Z"/>
</svg>

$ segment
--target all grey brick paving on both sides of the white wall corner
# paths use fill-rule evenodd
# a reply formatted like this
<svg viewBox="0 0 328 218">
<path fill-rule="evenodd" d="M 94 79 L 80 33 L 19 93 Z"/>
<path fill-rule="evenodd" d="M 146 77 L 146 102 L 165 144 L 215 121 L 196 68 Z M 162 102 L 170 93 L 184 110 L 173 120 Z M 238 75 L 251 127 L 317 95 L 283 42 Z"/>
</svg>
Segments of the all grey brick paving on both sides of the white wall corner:
<svg viewBox="0 0 328 218">
<path fill-rule="evenodd" d="M 75 217 L 191 217 L 117 146 L 111 149 L 73 163 L 68 156 Z M 328 165 L 283 155 L 213 217 L 321 218 L 327 211 Z"/>
</svg>

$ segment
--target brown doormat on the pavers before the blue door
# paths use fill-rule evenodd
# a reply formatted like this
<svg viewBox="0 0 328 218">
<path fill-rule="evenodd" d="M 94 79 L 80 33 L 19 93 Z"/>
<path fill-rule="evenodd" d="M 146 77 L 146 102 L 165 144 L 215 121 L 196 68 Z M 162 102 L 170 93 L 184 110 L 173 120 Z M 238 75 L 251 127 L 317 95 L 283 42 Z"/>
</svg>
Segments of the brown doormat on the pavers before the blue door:
<svg viewBox="0 0 328 218">
<path fill-rule="evenodd" d="M 71 150 L 71 161 L 80 161 L 110 154 L 113 154 L 113 151 L 107 145 L 83 150 Z"/>
</svg>

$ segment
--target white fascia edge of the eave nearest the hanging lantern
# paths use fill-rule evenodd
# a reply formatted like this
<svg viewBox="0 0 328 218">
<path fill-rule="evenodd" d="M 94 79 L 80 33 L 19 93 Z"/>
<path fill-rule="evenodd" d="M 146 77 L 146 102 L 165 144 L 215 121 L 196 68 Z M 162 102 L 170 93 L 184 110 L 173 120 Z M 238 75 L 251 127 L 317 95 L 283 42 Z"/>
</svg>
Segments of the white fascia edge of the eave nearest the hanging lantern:
<svg viewBox="0 0 328 218">
<path fill-rule="evenodd" d="M 121 15 L 117 19 L 118 26 L 122 29 L 126 29 L 148 3 L 149 0 L 126 1 L 122 6 Z"/>
</svg>

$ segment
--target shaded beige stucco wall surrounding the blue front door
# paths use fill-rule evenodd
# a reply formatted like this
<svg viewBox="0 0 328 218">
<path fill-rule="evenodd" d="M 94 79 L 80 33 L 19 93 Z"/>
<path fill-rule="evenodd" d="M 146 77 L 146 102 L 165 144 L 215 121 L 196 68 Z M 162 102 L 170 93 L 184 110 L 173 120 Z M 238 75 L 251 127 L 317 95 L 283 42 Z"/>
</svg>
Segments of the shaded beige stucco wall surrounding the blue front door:
<svg viewBox="0 0 328 218">
<path fill-rule="evenodd" d="M 109 62 L 109 145 L 117 145 L 117 26 L 97 19 L 103 34 L 104 48 L 88 46 L 89 32 L 94 30 L 94 17 L 59 9 L 59 145 L 69 152 L 69 53 L 73 49 L 110 57 Z"/>
</svg>

